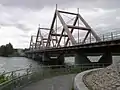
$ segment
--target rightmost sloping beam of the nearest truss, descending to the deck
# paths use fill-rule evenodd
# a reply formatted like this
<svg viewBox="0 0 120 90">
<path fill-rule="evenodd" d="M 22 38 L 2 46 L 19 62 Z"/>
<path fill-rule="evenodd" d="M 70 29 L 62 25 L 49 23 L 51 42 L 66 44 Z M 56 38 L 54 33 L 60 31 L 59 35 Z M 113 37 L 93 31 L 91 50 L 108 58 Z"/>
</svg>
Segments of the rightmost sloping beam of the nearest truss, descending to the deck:
<svg viewBox="0 0 120 90">
<path fill-rule="evenodd" d="M 88 27 L 92 33 L 92 35 L 95 37 L 96 41 L 101 41 L 100 37 L 94 32 L 94 30 L 89 26 L 89 24 L 82 18 L 80 14 L 78 14 L 78 17 L 83 22 L 83 24 Z"/>
</svg>

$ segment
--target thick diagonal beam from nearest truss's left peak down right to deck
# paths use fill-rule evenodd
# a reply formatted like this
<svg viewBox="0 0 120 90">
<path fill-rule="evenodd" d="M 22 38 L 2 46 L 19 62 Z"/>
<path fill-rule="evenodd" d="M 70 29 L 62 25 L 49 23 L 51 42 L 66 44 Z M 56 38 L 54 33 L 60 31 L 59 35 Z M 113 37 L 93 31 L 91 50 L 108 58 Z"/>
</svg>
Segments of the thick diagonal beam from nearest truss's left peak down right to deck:
<svg viewBox="0 0 120 90">
<path fill-rule="evenodd" d="M 61 24 L 63 25 L 63 28 L 64 28 L 65 32 L 67 33 L 69 39 L 71 40 L 72 44 L 76 45 L 76 41 L 75 41 L 74 37 L 72 36 L 71 32 L 69 31 L 69 28 L 67 27 L 67 25 L 64 22 L 63 18 L 61 17 L 60 13 L 58 11 L 56 11 L 56 14 L 57 14 Z"/>
</svg>

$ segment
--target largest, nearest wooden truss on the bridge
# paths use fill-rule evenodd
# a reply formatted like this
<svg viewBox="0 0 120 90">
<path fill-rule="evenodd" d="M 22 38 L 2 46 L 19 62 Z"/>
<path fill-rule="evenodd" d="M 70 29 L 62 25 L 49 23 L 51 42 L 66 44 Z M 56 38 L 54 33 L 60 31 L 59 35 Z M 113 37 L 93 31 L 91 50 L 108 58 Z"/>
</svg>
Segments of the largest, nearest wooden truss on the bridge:
<svg viewBox="0 0 120 90">
<path fill-rule="evenodd" d="M 64 21 L 63 17 L 61 16 L 61 13 L 74 15 L 75 19 L 74 19 L 73 24 L 68 25 Z M 55 20 L 57 20 L 57 17 L 58 17 L 58 19 L 59 19 L 59 21 L 60 21 L 60 23 L 62 24 L 62 27 L 63 27 L 61 34 L 57 34 L 55 32 L 54 28 L 53 28 L 54 25 L 56 24 Z M 78 20 L 81 20 L 81 22 L 84 24 L 84 27 L 76 25 Z M 62 37 L 67 38 L 67 40 L 65 41 L 64 47 L 68 46 L 69 41 L 72 43 L 72 45 L 77 45 L 78 43 L 76 42 L 74 36 L 72 35 L 74 29 L 86 30 L 87 31 L 87 33 L 86 33 L 86 35 L 85 35 L 85 37 L 82 41 L 82 44 L 85 43 L 89 34 L 92 34 L 93 37 L 96 39 L 96 41 L 100 41 L 99 36 L 94 32 L 94 30 L 88 25 L 88 23 L 83 19 L 83 17 L 79 13 L 71 13 L 71 12 L 56 10 L 55 14 L 54 14 L 54 17 L 53 17 L 52 24 L 51 24 L 50 32 L 49 32 L 49 35 L 48 35 L 48 40 L 47 40 L 46 47 L 56 47 L 56 48 L 60 47 L 61 46 L 60 42 L 61 42 Z M 66 33 L 66 35 L 63 35 L 64 32 Z M 56 38 L 53 39 L 53 37 L 56 37 Z"/>
</svg>

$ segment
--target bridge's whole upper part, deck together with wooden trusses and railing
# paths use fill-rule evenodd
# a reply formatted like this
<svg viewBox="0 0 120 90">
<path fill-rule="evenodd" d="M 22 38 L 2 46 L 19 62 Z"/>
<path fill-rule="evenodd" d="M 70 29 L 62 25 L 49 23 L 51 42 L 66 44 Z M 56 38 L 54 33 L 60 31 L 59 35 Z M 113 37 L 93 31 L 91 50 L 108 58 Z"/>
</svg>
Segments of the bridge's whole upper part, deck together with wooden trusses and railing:
<svg viewBox="0 0 120 90">
<path fill-rule="evenodd" d="M 69 23 L 65 16 L 71 17 L 69 18 Z M 42 33 L 43 30 L 48 30 L 45 35 Z M 26 53 L 111 47 L 118 46 L 120 42 L 120 32 L 115 31 L 98 35 L 80 13 L 57 9 L 55 10 L 51 27 L 39 27 L 35 37 L 36 40 L 33 40 L 34 36 L 31 36 L 30 51 Z"/>
</svg>

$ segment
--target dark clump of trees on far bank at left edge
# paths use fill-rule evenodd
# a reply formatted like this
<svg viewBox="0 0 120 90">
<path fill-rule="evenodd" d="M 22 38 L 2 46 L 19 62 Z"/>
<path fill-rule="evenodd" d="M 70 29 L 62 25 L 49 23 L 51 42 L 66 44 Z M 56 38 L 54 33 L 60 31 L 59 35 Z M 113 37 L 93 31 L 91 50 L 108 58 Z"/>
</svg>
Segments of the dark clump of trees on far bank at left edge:
<svg viewBox="0 0 120 90">
<path fill-rule="evenodd" d="M 6 45 L 2 45 L 0 47 L 0 56 L 9 56 L 13 53 L 13 46 L 11 43 L 6 44 Z"/>
</svg>

